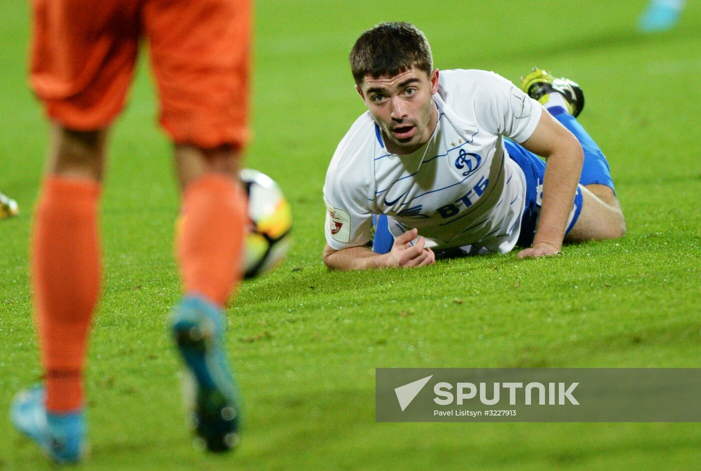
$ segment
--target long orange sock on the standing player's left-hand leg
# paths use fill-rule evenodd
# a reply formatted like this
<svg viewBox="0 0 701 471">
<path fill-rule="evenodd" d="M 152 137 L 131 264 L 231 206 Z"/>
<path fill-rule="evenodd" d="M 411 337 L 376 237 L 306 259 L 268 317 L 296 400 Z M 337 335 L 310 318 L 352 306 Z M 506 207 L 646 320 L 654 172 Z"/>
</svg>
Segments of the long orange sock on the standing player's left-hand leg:
<svg viewBox="0 0 701 471">
<path fill-rule="evenodd" d="M 83 404 L 88 328 L 100 292 L 99 196 L 97 182 L 48 177 L 36 208 L 32 285 L 52 412 Z"/>
</svg>

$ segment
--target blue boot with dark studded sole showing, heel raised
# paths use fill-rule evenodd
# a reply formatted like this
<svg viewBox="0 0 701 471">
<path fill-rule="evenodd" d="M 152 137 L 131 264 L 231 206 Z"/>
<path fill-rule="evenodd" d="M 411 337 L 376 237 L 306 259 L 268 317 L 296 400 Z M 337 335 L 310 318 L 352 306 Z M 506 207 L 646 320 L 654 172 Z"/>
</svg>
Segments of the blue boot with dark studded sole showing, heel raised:
<svg viewBox="0 0 701 471">
<path fill-rule="evenodd" d="M 196 435 L 207 450 L 228 451 L 239 441 L 240 402 L 226 360 L 222 312 L 200 296 L 186 296 L 170 322 L 186 367 L 184 379 L 193 386 L 188 399 Z"/>
</svg>

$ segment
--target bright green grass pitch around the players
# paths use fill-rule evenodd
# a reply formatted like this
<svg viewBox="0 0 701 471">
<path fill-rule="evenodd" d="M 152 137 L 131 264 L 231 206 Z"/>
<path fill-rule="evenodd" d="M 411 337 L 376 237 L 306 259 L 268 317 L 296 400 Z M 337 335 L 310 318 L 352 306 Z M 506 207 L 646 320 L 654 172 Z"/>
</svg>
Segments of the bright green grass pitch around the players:
<svg viewBox="0 0 701 471">
<path fill-rule="evenodd" d="M 27 240 L 47 126 L 27 88 L 29 13 L 0 5 L 0 470 L 48 470 L 11 429 L 15 391 L 38 380 Z M 142 61 L 114 127 L 104 186 L 104 289 L 86 375 L 92 452 L 78 470 L 691 469 L 697 423 L 375 423 L 375 367 L 700 367 L 701 5 L 674 31 L 635 32 L 646 1 L 257 2 L 247 166 L 280 182 L 296 245 L 228 310 L 246 404 L 235 453 L 190 446 L 165 318 L 179 296 L 178 196 Z M 628 233 L 421 270 L 323 266 L 321 190 L 364 110 L 347 54 L 377 22 L 423 29 L 440 69 L 518 81 L 533 65 L 578 81 L 580 122 L 611 163 Z M 693 463 L 697 463 L 693 465 Z"/>
</svg>

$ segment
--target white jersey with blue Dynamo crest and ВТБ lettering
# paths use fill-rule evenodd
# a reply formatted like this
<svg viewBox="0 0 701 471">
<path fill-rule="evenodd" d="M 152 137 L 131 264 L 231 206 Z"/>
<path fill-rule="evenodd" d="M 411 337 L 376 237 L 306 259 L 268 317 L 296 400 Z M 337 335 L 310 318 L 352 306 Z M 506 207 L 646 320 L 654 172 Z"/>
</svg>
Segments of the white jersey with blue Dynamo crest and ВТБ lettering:
<svg viewBox="0 0 701 471">
<path fill-rule="evenodd" d="M 334 250 L 368 244 L 373 214 L 388 215 L 395 238 L 418 228 L 435 250 L 506 253 L 516 244 L 526 180 L 503 137 L 531 137 L 543 107 L 481 70 L 440 71 L 433 100 L 435 131 L 414 153 L 388 153 L 369 111 L 341 140 L 324 184 Z"/>
</svg>

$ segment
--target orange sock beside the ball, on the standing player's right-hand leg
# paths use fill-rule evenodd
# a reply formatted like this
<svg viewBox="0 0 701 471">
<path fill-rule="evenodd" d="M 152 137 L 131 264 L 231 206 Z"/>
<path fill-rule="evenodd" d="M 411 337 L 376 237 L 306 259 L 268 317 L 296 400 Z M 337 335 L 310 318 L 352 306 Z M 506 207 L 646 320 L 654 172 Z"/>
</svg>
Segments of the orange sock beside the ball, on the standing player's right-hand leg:
<svg viewBox="0 0 701 471">
<path fill-rule="evenodd" d="M 240 186 L 209 173 L 183 193 L 177 254 L 186 294 L 224 306 L 240 278 L 247 205 Z"/>
</svg>

